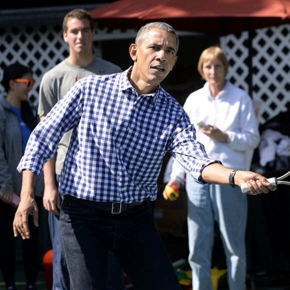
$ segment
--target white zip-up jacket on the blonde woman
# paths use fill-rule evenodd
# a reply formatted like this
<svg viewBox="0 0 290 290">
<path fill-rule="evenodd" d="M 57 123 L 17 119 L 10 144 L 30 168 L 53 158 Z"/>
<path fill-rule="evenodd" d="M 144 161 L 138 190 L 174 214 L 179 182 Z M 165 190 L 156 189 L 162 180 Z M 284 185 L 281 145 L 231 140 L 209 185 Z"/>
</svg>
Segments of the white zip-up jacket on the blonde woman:
<svg viewBox="0 0 290 290">
<path fill-rule="evenodd" d="M 260 136 L 250 96 L 241 88 L 226 81 L 224 88 L 212 97 L 209 84 L 189 94 L 184 110 L 196 129 L 196 139 L 207 154 L 225 167 L 249 170 L 252 153 Z M 203 121 L 228 134 L 228 142 L 213 140 L 203 134 L 197 123 Z M 172 164 L 172 177 L 184 177 L 185 170 L 177 162 Z"/>
</svg>

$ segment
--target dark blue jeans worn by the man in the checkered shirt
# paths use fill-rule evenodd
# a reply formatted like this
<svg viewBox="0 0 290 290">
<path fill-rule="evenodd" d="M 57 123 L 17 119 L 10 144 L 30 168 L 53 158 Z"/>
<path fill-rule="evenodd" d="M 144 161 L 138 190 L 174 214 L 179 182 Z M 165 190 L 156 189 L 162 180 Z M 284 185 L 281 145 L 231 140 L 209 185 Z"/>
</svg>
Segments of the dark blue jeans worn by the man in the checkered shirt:
<svg viewBox="0 0 290 290">
<path fill-rule="evenodd" d="M 73 289 L 106 289 L 109 251 L 135 290 L 181 289 L 147 202 L 112 214 L 64 197 L 60 224 Z"/>
</svg>

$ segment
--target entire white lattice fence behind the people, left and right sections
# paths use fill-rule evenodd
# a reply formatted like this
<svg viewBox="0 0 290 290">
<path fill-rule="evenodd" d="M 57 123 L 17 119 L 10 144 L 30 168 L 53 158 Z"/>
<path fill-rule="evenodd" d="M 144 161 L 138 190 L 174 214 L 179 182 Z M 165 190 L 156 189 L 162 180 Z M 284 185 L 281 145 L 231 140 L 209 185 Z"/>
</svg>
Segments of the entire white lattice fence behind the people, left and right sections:
<svg viewBox="0 0 290 290">
<path fill-rule="evenodd" d="M 100 30 L 98 27 L 97 32 L 97 36 L 103 39 L 132 34 L 131 31 L 108 33 L 105 28 Z M 248 90 L 247 34 L 242 32 L 220 37 L 220 45 L 230 61 L 228 76 L 245 90 Z M 259 122 L 264 123 L 290 108 L 290 24 L 257 29 L 254 34 L 252 98 L 259 105 Z M 62 39 L 61 23 L 0 28 L 0 38 L 0 78 L 3 68 L 14 61 L 29 65 L 36 81 L 30 100 L 36 106 L 43 73 L 68 54 L 67 44 Z M 94 53 L 101 56 L 97 43 L 94 42 Z M 0 93 L 3 93 L 1 85 Z"/>
</svg>

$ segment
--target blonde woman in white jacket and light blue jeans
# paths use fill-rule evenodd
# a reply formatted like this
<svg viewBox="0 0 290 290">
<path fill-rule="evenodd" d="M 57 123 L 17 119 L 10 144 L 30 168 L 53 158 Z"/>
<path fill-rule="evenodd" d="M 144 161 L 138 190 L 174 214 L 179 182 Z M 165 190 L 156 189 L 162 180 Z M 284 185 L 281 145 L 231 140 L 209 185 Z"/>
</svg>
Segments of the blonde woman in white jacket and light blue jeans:
<svg viewBox="0 0 290 290">
<path fill-rule="evenodd" d="M 199 58 L 198 71 L 206 82 L 187 97 L 184 110 L 194 124 L 196 139 L 211 158 L 219 159 L 228 168 L 248 170 L 252 151 L 260 139 L 257 122 L 251 98 L 226 79 L 227 68 L 228 61 L 220 47 L 205 49 Z M 183 167 L 174 161 L 169 182 L 181 180 L 184 173 Z M 193 290 L 212 289 L 215 221 L 225 251 L 229 288 L 245 290 L 246 194 L 239 187 L 197 183 L 189 174 L 186 192 Z"/>
</svg>

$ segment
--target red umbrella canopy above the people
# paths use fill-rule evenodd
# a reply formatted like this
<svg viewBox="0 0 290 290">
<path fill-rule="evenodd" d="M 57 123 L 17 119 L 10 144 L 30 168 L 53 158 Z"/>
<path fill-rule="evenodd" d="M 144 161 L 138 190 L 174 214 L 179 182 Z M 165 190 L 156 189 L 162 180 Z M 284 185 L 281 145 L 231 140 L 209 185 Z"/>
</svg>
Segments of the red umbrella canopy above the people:
<svg viewBox="0 0 290 290">
<path fill-rule="evenodd" d="M 111 29 L 164 21 L 177 30 L 225 35 L 290 23 L 290 0 L 118 0 L 90 10 Z"/>
</svg>

